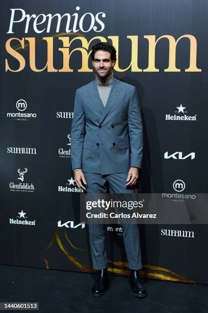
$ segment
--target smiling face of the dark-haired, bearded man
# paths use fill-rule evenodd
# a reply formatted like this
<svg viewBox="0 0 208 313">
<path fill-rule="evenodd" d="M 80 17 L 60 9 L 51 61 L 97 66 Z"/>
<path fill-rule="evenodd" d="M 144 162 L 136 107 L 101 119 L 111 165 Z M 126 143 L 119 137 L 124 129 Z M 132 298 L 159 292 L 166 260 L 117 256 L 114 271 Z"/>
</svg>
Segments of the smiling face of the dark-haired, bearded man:
<svg viewBox="0 0 208 313">
<path fill-rule="evenodd" d="M 92 61 L 95 73 L 103 79 L 111 76 L 112 68 L 115 63 L 115 61 L 111 60 L 110 52 L 104 50 L 96 51 L 94 54 L 94 61 Z"/>
</svg>

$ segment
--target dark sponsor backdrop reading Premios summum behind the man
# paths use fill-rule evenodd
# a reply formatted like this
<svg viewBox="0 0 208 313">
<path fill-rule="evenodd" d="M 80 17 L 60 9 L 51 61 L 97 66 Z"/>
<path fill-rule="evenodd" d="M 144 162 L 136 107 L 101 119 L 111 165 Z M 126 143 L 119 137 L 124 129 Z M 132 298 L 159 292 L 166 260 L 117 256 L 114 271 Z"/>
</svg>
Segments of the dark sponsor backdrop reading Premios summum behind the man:
<svg viewBox="0 0 208 313">
<path fill-rule="evenodd" d="M 70 131 L 99 41 L 117 50 L 114 76 L 137 88 L 139 191 L 207 191 L 207 13 L 203 0 L 1 3 L 0 263 L 94 272 Z M 143 277 L 208 283 L 207 225 L 139 229 Z M 128 275 L 121 227 L 106 226 L 106 244 L 109 271 Z"/>
</svg>

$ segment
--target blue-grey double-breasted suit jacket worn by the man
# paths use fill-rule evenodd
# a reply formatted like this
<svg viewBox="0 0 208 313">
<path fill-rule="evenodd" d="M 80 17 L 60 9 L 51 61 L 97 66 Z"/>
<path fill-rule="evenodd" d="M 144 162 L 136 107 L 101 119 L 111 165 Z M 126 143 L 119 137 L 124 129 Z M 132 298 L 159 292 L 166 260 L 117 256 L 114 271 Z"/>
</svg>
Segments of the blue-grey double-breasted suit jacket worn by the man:
<svg viewBox="0 0 208 313">
<path fill-rule="evenodd" d="M 72 170 L 115 174 L 141 168 L 142 119 L 136 88 L 114 77 L 106 106 L 96 80 L 78 88 L 71 127 Z"/>
</svg>

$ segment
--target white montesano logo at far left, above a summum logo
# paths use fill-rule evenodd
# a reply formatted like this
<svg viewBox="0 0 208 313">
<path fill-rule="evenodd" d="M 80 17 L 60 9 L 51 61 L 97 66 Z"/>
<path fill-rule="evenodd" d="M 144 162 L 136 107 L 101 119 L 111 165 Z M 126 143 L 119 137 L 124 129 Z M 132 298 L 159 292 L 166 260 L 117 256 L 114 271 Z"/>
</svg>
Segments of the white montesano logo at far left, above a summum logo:
<svg viewBox="0 0 208 313">
<path fill-rule="evenodd" d="M 18 112 L 8 112 L 7 117 L 11 117 L 16 121 L 30 121 L 31 118 L 36 118 L 37 114 L 36 113 L 27 113 L 24 112 L 24 110 L 27 109 L 27 102 L 23 99 L 19 99 L 16 102 L 16 108 Z"/>
</svg>

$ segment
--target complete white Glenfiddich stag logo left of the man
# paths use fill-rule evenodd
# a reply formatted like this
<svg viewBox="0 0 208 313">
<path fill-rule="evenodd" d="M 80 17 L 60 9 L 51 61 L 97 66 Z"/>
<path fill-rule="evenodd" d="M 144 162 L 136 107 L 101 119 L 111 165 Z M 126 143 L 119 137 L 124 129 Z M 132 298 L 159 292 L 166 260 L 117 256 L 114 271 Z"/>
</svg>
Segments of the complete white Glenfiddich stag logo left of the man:
<svg viewBox="0 0 208 313">
<path fill-rule="evenodd" d="M 19 174 L 19 177 L 17 177 L 18 184 L 15 184 L 14 182 L 9 183 L 9 188 L 10 191 L 15 191 L 15 192 L 34 192 L 35 187 L 32 183 L 25 183 L 24 182 L 24 175 L 28 172 L 27 168 L 24 168 L 21 170 L 20 168 L 17 169 L 17 173 Z"/>
</svg>

